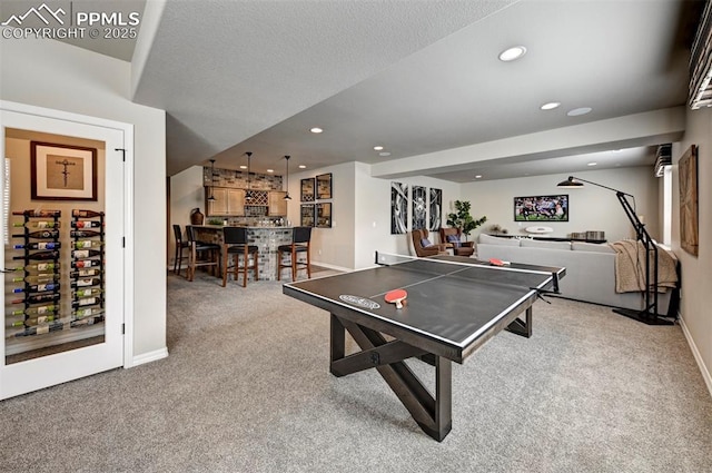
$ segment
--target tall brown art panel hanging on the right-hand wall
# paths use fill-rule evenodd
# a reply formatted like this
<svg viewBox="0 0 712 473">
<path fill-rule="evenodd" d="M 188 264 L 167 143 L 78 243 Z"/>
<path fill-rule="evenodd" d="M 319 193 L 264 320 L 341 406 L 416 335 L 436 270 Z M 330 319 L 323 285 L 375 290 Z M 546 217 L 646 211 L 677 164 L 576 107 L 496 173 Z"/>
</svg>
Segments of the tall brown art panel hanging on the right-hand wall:
<svg viewBox="0 0 712 473">
<path fill-rule="evenodd" d="M 700 248 L 698 209 L 698 147 L 692 145 L 678 164 L 680 178 L 680 246 L 698 256 Z"/>
</svg>

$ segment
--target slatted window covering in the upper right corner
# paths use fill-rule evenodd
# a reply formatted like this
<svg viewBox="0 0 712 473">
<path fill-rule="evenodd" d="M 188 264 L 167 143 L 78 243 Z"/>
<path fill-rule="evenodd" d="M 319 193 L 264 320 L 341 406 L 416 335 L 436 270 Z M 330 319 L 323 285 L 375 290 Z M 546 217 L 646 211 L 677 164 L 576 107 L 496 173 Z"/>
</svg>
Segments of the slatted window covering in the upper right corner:
<svg viewBox="0 0 712 473">
<path fill-rule="evenodd" d="M 712 2 L 706 2 L 690 55 L 690 108 L 712 106 Z"/>
</svg>

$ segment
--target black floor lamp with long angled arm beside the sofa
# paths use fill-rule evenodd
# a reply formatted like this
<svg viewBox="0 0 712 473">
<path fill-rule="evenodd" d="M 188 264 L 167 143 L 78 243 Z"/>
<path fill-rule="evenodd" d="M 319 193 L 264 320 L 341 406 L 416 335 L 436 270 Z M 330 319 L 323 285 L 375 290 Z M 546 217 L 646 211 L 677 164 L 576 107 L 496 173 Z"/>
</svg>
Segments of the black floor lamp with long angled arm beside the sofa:
<svg viewBox="0 0 712 473">
<path fill-rule="evenodd" d="M 633 224 L 633 228 L 635 229 L 635 238 L 645 247 L 645 308 L 643 311 L 614 308 L 613 312 L 647 325 L 673 325 L 672 322 L 660 318 L 660 316 L 657 315 L 657 245 L 655 245 L 655 242 L 653 242 L 653 238 L 645 229 L 645 224 L 643 224 L 640 218 L 637 218 L 637 215 L 635 215 L 635 209 L 629 200 L 629 197 L 633 199 L 635 199 L 635 197 L 633 197 L 631 194 L 625 194 L 612 187 L 603 186 L 601 184 L 592 183 L 590 180 L 581 179 L 574 176 L 568 176 L 568 179 L 558 183 L 557 187 L 581 188 L 583 187 L 582 183 L 603 187 L 604 189 L 613 190 L 615 193 L 615 196 L 623 206 L 625 215 L 627 216 L 629 220 L 631 220 L 631 224 Z M 652 268 L 650 262 L 651 252 L 653 255 Z"/>
</svg>

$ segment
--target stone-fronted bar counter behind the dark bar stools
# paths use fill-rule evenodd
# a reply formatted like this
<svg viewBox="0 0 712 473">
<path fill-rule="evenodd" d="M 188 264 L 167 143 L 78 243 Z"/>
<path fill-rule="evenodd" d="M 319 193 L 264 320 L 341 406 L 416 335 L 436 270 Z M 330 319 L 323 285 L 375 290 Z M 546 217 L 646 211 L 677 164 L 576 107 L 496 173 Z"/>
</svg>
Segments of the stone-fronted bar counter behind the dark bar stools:
<svg viewBox="0 0 712 473">
<path fill-rule="evenodd" d="M 196 239 L 222 244 L 222 225 L 194 225 Z M 247 239 L 250 245 L 259 248 L 259 279 L 277 279 L 277 247 L 291 243 L 294 227 L 260 227 L 248 226 Z M 253 280 L 253 273 L 248 272 L 248 280 Z M 289 277 L 288 274 L 285 276 Z"/>
</svg>

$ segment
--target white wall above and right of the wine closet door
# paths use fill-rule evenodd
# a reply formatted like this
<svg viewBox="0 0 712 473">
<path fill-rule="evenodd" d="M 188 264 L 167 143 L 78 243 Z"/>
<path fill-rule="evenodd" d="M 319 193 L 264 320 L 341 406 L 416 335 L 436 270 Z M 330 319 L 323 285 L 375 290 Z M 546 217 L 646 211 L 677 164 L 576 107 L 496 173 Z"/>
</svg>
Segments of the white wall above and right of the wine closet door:
<svg viewBox="0 0 712 473">
<path fill-rule="evenodd" d="M 129 100 L 130 65 L 51 40 L 0 40 L 0 98 L 135 126 L 134 354 L 166 349 L 166 118 Z M 131 315 L 129 315 L 131 316 Z M 158 355 L 156 355 L 158 356 Z"/>
</svg>

